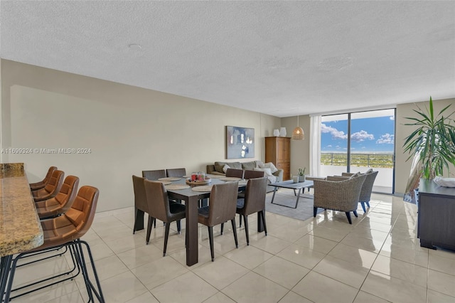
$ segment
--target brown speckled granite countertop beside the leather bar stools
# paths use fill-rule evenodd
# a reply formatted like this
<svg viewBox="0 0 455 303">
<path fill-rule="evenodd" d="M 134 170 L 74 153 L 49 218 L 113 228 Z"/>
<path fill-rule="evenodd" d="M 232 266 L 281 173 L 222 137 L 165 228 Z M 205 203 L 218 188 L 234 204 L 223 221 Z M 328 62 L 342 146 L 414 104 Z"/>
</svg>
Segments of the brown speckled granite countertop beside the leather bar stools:
<svg viewBox="0 0 455 303">
<path fill-rule="evenodd" d="M 1 164 L 0 257 L 43 245 L 43 229 L 28 179 L 18 166 Z"/>
</svg>

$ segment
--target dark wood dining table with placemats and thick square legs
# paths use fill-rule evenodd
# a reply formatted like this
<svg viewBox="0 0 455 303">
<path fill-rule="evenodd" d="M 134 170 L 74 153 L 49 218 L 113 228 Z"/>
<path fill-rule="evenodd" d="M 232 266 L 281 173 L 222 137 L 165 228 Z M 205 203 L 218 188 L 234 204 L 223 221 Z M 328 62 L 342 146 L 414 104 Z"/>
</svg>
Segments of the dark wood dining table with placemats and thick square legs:
<svg viewBox="0 0 455 303">
<path fill-rule="evenodd" d="M 182 189 L 172 189 L 172 186 L 168 186 L 166 191 L 168 193 L 168 198 L 170 199 L 178 199 L 185 201 L 186 205 L 186 265 L 191 266 L 198 263 L 198 207 L 199 201 L 207 201 L 210 198 L 210 190 L 207 191 L 197 191 L 196 187 L 201 186 L 210 186 L 213 184 L 223 184 L 229 181 L 238 181 L 239 182 L 239 191 L 245 190 L 247 185 L 247 180 L 236 178 L 226 178 L 224 176 L 218 175 L 206 175 L 206 179 L 208 182 L 187 182 L 188 179 L 191 179 L 189 176 L 183 176 L 182 178 L 168 178 L 166 181 L 167 185 L 189 185 L 187 188 Z M 161 179 L 160 179 L 161 180 Z M 182 186 L 183 187 L 183 186 Z M 209 201 L 210 203 L 210 201 Z M 144 213 L 138 211 L 139 215 L 141 216 L 142 220 L 137 227 L 144 224 Z M 259 216 L 259 214 L 258 214 Z M 138 229 L 137 229 L 138 230 Z M 264 225 L 262 225 L 262 220 L 257 220 L 257 230 L 258 232 L 262 232 L 264 230 Z"/>
</svg>

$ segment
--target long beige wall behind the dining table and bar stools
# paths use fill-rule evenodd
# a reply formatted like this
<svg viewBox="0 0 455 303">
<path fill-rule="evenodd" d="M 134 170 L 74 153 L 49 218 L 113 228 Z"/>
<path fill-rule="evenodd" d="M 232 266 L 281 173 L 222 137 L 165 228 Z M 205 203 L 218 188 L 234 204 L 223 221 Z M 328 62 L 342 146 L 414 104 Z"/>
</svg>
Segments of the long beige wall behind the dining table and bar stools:
<svg viewBox="0 0 455 303">
<path fill-rule="evenodd" d="M 132 206 L 132 175 L 225 159 L 225 126 L 255 129 L 255 158 L 280 119 L 234 107 L 1 60 L 1 148 L 86 148 L 90 154 L 3 154 L 29 181 L 48 167 L 100 188 L 98 211 Z M 246 159 L 250 161 L 252 159 Z M 237 160 L 232 160 L 237 161 Z M 242 161 L 242 160 L 240 160 Z"/>
</svg>

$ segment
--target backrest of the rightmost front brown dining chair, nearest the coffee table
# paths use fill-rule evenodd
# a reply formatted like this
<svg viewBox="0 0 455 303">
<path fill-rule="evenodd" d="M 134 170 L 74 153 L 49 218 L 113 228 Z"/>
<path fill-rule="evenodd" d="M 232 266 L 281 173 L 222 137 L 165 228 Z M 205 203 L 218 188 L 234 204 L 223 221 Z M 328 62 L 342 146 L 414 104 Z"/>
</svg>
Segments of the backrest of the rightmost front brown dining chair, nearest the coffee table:
<svg viewBox="0 0 455 303">
<path fill-rule="evenodd" d="M 265 195 L 267 193 L 267 177 L 248 180 L 245 190 L 245 205 L 243 212 L 246 216 L 265 209 Z"/>
</svg>

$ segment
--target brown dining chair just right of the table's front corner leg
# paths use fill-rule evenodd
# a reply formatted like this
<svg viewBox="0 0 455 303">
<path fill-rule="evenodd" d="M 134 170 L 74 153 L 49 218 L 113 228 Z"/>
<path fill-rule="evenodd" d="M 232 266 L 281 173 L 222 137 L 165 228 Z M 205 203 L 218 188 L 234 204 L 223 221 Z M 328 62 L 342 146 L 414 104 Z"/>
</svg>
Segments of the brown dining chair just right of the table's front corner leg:
<svg viewBox="0 0 455 303">
<path fill-rule="evenodd" d="M 237 191 L 238 182 L 213 184 L 212 191 L 210 191 L 209 206 L 204 206 L 198 209 L 198 222 L 208 228 L 208 240 L 210 242 L 212 262 L 215 260 L 215 252 L 213 250 L 213 226 L 223 224 L 230 220 L 232 223 L 232 231 L 234 233 L 235 248 L 239 248 L 237 241 L 237 229 L 235 227 Z"/>
</svg>

